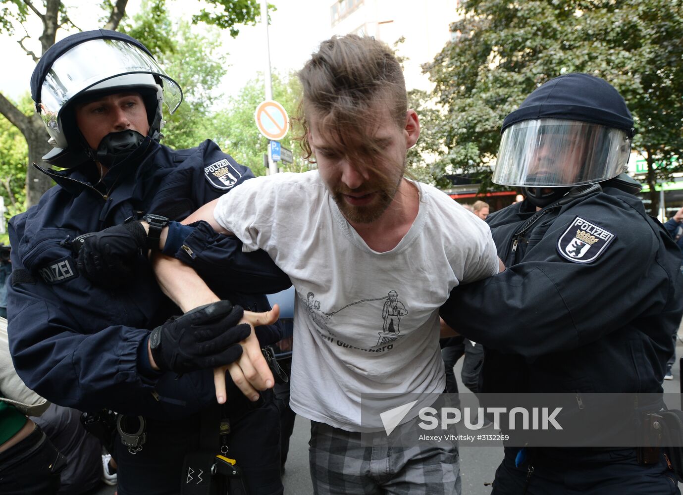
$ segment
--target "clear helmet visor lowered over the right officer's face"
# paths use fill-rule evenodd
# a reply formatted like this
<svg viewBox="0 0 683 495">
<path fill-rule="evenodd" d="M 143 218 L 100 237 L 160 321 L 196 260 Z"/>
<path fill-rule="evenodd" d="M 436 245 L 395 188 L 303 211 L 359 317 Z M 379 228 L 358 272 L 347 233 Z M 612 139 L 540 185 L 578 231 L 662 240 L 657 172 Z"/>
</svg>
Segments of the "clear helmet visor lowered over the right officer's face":
<svg viewBox="0 0 683 495">
<path fill-rule="evenodd" d="M 621 129 L 565 119 L 524 120 L 503 131 L 493 182 L 578 186 L 626 169 L 630 139 Z"/>
</svg>

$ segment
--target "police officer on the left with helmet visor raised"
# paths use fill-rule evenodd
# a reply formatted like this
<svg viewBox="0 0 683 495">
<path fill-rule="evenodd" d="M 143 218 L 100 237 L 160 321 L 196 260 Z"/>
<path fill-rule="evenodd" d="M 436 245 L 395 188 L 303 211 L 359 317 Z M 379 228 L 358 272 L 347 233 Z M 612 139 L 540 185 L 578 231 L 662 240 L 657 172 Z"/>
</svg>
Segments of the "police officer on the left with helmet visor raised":
<svg viewBox="0 0 683 495">
<path fill-rule="evenodd" d="M 10 221 L 8 333 L 18 374 L 55 404 L 118 413 L 121 495 L 176 494 L 193 468 L 231 493 L 281 493 L 271 391 L 251 401 L 233 385 L 219 407 L 212 369 L 251 359 L 247 341 L 260 355 L 259 343 L 279 340 L 272 315 L 243 308 L 267 311 L 260 294 L 289 279 L 265 253 L 242 253 L 208 224 L 177 222 L 253 174 L 210 140 L 189 150 L 158 142 L 163 106 L 173 113 L 182 91 L 123 33 L 57 42 L 33 72 L 31 96 L 53 146 L 44 160 L 64 170 L 38 167 L 57 186 Z M 182 249 L 165 254 L 186 257 L 222 300 L 182 315 L 165 298 L 148 253 L 167 225 L 167 245 Z M 131 242 L 124 259 L 98 255 Z M 226 257 L 238 260 L 236 276 L 212 279 Z M 254 333 L 247 321 L 262 326 Z M 236 460 L 238 480 L 208 475 L 218 453 Z"/>
</svg>

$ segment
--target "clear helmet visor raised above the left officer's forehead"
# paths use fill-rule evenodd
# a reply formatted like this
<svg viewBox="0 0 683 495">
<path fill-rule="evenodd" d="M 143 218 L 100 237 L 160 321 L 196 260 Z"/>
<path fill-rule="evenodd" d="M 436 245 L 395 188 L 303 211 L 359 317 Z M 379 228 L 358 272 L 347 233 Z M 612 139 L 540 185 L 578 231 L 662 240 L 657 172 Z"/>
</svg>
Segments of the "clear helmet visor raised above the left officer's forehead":
<svg viewBox="0 0 683 495">
<path fill-rule="evenodd" d="M 59 111 L 89 87 L 122 74 L 154 74 L 165 79 L 164 102 L 173 113 L 182 91 L 150 55 L 121 40 L 89 40 L 71 48 L 53 63 L 40 91 L 40 114 L 57 126 Z"/>
</svg>

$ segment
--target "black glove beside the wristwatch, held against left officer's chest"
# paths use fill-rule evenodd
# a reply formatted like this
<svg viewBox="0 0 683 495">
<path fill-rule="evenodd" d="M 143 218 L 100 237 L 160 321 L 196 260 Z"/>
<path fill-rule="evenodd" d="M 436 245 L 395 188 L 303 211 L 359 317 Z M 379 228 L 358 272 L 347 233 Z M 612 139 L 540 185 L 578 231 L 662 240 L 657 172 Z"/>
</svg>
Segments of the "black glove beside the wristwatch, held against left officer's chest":
<svg viewBox="0 0 683 495">
<path fill-rule="evenodd" d="M 145 228 L 138 221 L 79 236 L 72 244 L 78 251 L 76 265 L 92 283 L 118 287 L 133 279 L 135 265 L 130 261 L 146 240 Z"/>
</svg>

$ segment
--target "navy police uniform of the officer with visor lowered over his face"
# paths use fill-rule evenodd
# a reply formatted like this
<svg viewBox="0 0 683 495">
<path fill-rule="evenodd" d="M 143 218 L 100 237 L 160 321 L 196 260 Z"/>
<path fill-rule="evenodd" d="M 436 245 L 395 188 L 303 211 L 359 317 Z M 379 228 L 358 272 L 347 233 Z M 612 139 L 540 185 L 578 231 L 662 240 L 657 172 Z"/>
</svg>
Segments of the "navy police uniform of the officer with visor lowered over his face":
<svg viewBox="0 0 683 495">
<path fill-rule="evenodd" d="M 683 313 L 673 240 L 640 199 L 609 182 L 546 207 L 518 234 L 534 215 L 529 209 L 524 201 L 489 216 L 507 268 L 454 290 L 441 310 L 462 335 L 485 345 L 482 391 L 574 393 L 577 408 L 582 393 L 661 393 L 671 329 Z M 592 241 L 579 253 L 577 231 Z M 522 493 L 529 463 L 529 494 L 552 493 L 557 482 L 602 494 L 601 483 L 615 479 L 622 486 L 609 489 L 621 494 L 678 493 L 665 459 L 639 466 L 635 449 L 536 449 L 515 466 L 518 451 L 505 448 L 494 494 Z"/>
</svg>

